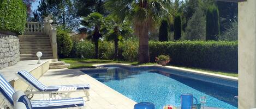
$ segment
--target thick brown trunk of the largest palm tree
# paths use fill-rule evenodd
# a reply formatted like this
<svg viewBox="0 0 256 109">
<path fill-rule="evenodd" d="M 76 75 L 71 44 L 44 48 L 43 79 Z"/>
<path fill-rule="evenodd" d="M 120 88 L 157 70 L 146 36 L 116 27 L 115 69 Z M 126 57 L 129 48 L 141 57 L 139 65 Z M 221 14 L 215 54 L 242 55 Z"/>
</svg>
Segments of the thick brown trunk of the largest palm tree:
<svg viewBox="0 0 256 109">
<path fill-rule="evenodd" d="M 148 47 L 148 25 L 144 23 L 139 34 L 139 63 L 150 62 L 150 51 Z"/>
</svg>

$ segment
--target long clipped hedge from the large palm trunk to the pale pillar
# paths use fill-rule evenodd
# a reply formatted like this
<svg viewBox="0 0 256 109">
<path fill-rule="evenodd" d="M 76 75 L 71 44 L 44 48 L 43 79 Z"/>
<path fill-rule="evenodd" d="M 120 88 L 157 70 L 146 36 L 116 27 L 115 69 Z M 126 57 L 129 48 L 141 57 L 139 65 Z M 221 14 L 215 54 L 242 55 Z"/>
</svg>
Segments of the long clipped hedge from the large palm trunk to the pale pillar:
<svg viewBox="0 0 256 109">
<path fill-rule="evenodd" d="M 227 41 L 150 42 L 150 56 L 152 62 L 165 54 L 171 65 L 237 72 L 237 47 L 237 42 Z"/>
</svg>

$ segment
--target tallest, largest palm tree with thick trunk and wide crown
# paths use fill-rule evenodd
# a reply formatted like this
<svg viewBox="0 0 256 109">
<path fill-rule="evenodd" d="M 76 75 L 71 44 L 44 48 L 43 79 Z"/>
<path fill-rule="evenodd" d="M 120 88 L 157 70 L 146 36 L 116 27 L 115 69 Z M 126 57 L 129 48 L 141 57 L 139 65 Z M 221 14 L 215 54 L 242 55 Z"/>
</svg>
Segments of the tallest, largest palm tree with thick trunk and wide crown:
<svg viewBox="0 0 256 109">
<path fill-rule="evenodd" d="M 134 24 L 135 34 L 139 36 L 139 63 L 150 61 L 148 33 L 163 16 L 170 15 L 170 0 L 108 0 L 106 8 L 121 20 Z"/>
</svg>

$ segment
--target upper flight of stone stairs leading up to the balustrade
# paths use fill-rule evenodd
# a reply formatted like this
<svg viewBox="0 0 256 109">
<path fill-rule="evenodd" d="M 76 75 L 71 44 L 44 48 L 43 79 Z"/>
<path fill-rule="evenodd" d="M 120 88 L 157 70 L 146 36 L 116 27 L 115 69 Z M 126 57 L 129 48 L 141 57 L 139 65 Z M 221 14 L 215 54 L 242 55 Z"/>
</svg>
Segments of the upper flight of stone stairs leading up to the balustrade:
<svg viewBox="0 0 256 109">
<path fill-rule="evenodd" d="M 40 59 L 53 59 L 50 37 L 47 35 L 20 35 L 20 60 L 37 60 L 37 52 L 42 52 Z"/>
</svg>

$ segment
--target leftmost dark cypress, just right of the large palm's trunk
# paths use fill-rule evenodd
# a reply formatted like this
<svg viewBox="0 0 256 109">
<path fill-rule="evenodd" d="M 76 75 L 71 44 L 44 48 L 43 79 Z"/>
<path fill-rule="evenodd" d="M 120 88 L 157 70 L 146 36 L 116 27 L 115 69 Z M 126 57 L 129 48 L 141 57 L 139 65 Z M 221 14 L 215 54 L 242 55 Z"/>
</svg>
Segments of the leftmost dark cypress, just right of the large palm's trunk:
<svg viewBox="0 0 256 109">
<path fill-rule="evenodd" d="M 164 18 L 161 22 L 160 28 L 159 28 L 159 41 L 168 41 L 169 36 L 169 23 L 166 18 Z"/>
</svg>

